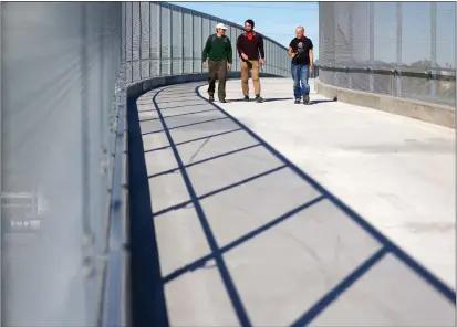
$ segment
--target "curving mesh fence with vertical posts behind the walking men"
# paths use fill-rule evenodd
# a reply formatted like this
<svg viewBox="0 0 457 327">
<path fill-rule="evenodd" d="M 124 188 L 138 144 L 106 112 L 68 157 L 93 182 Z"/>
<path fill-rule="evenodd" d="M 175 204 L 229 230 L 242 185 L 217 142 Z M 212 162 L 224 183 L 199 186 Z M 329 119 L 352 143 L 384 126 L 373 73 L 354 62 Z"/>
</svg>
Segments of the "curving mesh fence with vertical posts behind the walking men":
<svg viewBox="0 0 457 327">
<path fill-rule="evenodd" d="M 123 56 L 127 83 L 181 74 L 204 73 L 201 52 L 216 24 L 228 27 L 226 35 L 233 49 L 232 71 L 240 72 L 237 38 L 243 27 L 167 2 L 123 2 Z M 264 36 L 264 73 L 290 77 L 287 49 Z"/>
</svg>

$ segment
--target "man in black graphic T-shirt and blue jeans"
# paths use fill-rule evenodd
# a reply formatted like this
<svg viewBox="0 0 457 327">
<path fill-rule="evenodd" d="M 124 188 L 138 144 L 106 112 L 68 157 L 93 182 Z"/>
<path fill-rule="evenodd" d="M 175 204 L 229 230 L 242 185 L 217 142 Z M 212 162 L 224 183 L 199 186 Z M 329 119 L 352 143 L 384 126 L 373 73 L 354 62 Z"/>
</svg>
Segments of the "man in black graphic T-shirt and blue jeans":
<svg viewBox="0 0 457 327">
<path fill-rule="evenodd" d="M 293 95 L 295 104 L 300 104 L 302 96 L 303 104 L 309 104 L 310 85 L 308 78 L 313 71 L 313 43 L 304 36 L 303 27 L 298 27 L 295 34 L 297 38 L 290 42 L 288 50 L 288 54 L 292 57 Z"/>
</svg>

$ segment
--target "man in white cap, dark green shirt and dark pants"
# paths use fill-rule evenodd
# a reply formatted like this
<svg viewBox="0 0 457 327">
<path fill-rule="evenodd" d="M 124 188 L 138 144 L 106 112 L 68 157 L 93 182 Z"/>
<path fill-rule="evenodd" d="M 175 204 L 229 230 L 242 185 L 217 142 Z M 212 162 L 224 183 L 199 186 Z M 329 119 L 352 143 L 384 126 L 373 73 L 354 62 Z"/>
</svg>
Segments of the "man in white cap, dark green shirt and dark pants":
<svg viewBox="0 0 457 327">
<path fill-rule="evenodd" d="M 208 94 L 209 101 L 215 101 L 216 80 L 219 75 L 218 95 L 221 103 L 226 102 L 226 80 L 227 71 L 231 70 L 231 43 L 225 35 L 226 25 L 219 23 L 216 25 L 216 34 L 209 35 L 206 41 L 204 53 L 201 55 L 204 67 L 208 67 Z M 208 63 L 206 62 L 208 60 Z"/>
</svg>

